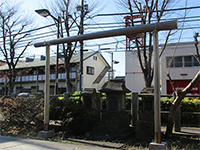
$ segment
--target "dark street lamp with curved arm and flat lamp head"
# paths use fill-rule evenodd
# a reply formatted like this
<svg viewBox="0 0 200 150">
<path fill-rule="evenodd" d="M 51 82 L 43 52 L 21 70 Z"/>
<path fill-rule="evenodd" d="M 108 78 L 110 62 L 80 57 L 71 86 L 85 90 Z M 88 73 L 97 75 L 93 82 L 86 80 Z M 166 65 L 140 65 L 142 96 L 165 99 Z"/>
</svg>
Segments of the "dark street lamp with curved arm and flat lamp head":
<svg viewBox="0 0 200 150">
<path fill-rule="evenodd" d="M 58 16 L 58 19 L 55 18 L 53 15 L 51 15 L 51 13 L 49 12 L 49 10 L 47 9 L 38 9 L 35 10 L 36 13 L 38 13 L 40 16 L 42 17 L 47 17 L 50 16 L 53 18 L 53 20 L 55 22 L 57 22 L 57 38 L 59 39 L 59 33 L 60 33 L 60 22 L 61 22 L 61 18 L 60 16 Z M 56 54 L 56 69 L 55 69 L 55 85 L 54 85 L 54 95 L 56 95 L 58 93 L 58 60 L 59 60 L 59 44 L 57 44 L 57 54 Z"/>
</svg>

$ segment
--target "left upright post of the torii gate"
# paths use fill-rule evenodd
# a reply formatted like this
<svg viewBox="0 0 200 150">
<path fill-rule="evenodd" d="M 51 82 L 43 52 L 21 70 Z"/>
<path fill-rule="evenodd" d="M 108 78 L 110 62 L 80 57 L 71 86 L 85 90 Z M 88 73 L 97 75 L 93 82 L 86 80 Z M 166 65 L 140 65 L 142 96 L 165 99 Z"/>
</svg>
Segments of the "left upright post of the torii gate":
<svg viewBox="0 0 200 150">
<path fill-rule="evenodd" d="M 50 88 L 50 46 L 46 45 L 45 95 L 44 95 L 44 131 L 49 130 L 49 88 Z"/>
</svg>

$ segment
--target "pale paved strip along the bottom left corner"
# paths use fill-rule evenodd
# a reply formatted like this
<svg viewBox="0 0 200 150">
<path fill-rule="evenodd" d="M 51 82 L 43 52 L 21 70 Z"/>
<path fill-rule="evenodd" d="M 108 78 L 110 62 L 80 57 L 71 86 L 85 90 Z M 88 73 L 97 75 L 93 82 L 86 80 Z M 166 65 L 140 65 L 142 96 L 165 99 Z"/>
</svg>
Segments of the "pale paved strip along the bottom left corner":
<svg viewBox="0 0 200 150">
<path fill-rule="evenodd" d="M 42 140 L 0 136 L 0 150 L 116 150 L 76 143 L 59 143 Z"/>
</svg>

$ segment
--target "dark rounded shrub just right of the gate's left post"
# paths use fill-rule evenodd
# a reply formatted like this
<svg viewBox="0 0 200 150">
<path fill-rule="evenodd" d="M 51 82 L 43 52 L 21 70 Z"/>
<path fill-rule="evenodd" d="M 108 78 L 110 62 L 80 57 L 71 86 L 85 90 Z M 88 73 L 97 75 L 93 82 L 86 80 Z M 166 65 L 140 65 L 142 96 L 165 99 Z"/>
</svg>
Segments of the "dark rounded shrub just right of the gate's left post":
<svg viewBox="0 0 200 150">
<path fill-rule="evenodd" d="M 61 120 L 61 126 L 73 135 L 90 131 L 95 123 L 92 110 L 86 110 L 77 99 L 69 101 L 54 97 L 50 100 L 50 120 Z"/>
</svg>

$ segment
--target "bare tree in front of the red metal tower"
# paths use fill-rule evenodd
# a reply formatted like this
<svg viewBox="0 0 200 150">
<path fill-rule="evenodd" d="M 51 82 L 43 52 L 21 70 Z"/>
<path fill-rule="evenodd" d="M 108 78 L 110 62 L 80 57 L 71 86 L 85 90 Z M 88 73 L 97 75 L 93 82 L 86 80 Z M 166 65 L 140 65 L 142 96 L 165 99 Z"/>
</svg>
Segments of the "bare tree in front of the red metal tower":
<svg viewBox="0 0 200 150">
<path fill-rule="evenodd" d="M 159 22 L 165 13 L 165 9 L 170 4 L 170 0 L 119 0 L 118 3 L 123 4 L 122 6 L 128 9 L 131 26 L 134 26 L 136 12 L 139 12 L 141 24 L 149 24 L 153 21 Z M 165 43 L 167 43 L 170 35 L 171 31 L 169 31 Z M 145 86 L 151 87 L 153 80 L 153 33 L 145 32 L 140 37 L 135 35 L 134 42 L 137 47 L 137 56 L 144 75 Z"/>
</svg>

